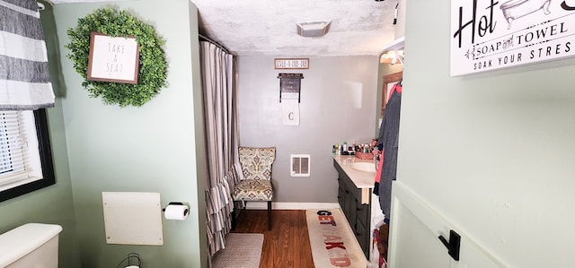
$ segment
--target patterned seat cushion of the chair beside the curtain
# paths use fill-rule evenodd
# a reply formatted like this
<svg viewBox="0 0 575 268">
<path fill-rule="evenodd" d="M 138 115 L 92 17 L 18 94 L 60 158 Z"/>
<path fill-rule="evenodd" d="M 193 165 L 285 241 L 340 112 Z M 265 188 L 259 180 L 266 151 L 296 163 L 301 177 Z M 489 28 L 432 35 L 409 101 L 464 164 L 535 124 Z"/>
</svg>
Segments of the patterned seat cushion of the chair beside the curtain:
<svg viewBox="0 0 575 268">
<path fill-rule="evenodd" d="M 271 201 L 271 181 L 265 179 L 244 179 L 234 187 L 232 197 L 243 201 Z"/>
</svg>

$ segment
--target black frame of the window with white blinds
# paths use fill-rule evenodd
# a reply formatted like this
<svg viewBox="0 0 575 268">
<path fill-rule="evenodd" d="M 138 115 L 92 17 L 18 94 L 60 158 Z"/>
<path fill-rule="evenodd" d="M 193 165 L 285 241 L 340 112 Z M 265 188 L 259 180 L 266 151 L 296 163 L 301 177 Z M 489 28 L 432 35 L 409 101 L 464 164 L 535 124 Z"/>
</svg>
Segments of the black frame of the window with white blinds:
<svg viewBox="0 0 575 268">
<path fill-rule="evenodd" d="M 34 125 L 36 126 L 36 135 L 38 138 L 42 178 L 21 186 L 14 186 L 1 191 L 0 202 L 56 184 L 54 165 L 52 162 L 52 150 L 49 139 L 48 118 L 46 117 L 45 108 L 34 110 Z"/>
</svg>

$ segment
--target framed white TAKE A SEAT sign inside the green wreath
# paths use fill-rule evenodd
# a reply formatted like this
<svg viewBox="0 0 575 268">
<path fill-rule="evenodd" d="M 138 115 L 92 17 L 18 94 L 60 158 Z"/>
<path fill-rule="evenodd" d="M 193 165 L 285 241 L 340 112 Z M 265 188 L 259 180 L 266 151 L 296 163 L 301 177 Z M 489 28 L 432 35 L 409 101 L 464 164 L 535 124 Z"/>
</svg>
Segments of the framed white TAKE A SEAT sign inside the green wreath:
<svg viewBox="0 0 575 268">
<path fill-rule="evenodd" d="M 136 38 L 110 37 L 93 31 L 87 80 L 136 84 L 138 60 Z"/>
</svg>

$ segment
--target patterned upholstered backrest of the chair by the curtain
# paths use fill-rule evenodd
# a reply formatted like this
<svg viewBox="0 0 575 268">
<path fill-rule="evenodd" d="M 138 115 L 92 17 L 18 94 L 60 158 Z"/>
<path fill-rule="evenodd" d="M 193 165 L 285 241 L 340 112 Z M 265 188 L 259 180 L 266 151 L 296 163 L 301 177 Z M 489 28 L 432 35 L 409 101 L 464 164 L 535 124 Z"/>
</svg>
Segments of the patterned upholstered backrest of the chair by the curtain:
<svg viewBox="0 0 575 268">
<path fill-rule="evenodd" d="M 238 148 L 243 179 L 271 179 L 271 164 L 276 160 L 276 147 Z"/>
</svg>

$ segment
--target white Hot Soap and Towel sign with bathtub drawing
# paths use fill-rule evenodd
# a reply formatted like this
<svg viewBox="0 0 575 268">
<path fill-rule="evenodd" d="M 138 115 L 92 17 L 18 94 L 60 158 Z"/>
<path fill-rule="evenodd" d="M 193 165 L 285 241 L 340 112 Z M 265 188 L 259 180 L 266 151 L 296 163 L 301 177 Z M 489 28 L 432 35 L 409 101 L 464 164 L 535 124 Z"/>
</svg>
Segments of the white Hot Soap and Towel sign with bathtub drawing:
<svg viewBox="0 0 575 268">
<path fill-rule="evenodd" d="M 451 0 L 451 75 L 575 56 L 575 1 Z"/>
</svg>

